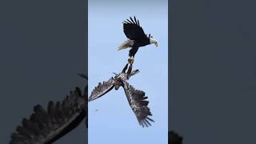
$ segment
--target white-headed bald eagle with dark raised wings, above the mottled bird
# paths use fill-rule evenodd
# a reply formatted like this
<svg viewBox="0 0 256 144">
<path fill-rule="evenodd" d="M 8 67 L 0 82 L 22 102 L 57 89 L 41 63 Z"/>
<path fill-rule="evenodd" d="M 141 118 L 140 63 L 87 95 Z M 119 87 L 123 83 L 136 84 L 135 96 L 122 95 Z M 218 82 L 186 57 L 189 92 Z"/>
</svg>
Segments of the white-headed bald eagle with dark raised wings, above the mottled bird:
<svg viewBox="0 0 256 144">
<path fill-rule="evenodd" d="M 129 51 L 129 59 L 128 62 L 132 64 L 134 62 L 134 56 L 138 51 L 138 48 L 141 46 L 146 46 L 154 43 L 156 47 L 158 47 L 158 42 L 156 39 L 152 37 L 152 35 L 148 35 L 144 33 L 144 30 L 139 25 L 139 21 L 135 18 L 130 17 L 126 19 L 123 23 L 123 31 L 128 38 L 125 42 L 123 42 L 120 46 L 118 46 L 118 50 L 123 50 L 128 47 L 131 47 Z"/>
</svg>

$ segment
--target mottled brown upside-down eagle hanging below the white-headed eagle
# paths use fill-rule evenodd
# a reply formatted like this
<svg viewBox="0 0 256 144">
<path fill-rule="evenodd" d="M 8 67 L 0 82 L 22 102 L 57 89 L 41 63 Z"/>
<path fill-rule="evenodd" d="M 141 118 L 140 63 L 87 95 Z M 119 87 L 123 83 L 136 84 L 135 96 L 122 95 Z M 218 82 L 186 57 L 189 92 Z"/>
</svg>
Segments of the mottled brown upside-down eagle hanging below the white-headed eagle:
<svg viewBox="0 0 256 144">
<path fill-rule="evenodd" d="M 113 88 L 118 90 L 119 87 L 122 86 L 125 90 L 126 98 L 130 104 L 130 107 L 138 119 L 139 125 L 142 127 L 151 126 L 150 122 L 154 122 L 154 120 L 149 118 L 149 116 L 152 116 L 152 114 L 150 112 L 150 108 L 147 106 L 149 102 L 146 101 L 147 97 L 145 96 L 145 92 L 142 90 L 135 90 L 134 87 L 130 86 L 130 84 L 127 82 L 131 76 L 138 74 L 139 70 L 132 70 L 132 65 L 130 65 L 126 72 L 127 67 L 128 63 L 123 68 L 122 72 L 116 74 L 114 78 L 112 77 L 106 82 L 99 82 L 98 86 L 96 86 L 91 92 L 88 101 L 91 102 L 102 97 L 102 95 L 106 94 Z"/>
</svg>

